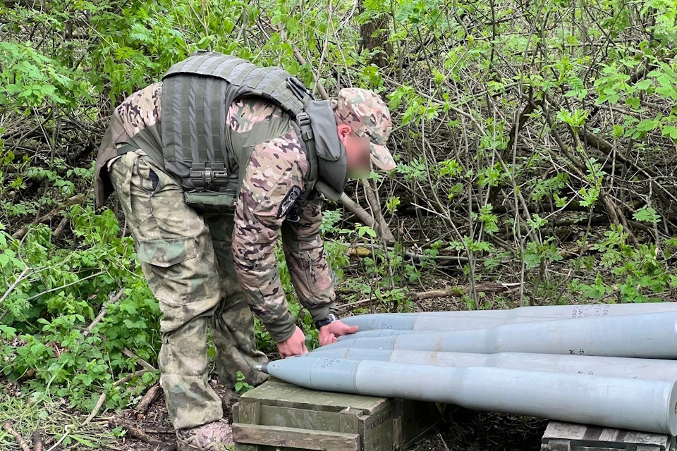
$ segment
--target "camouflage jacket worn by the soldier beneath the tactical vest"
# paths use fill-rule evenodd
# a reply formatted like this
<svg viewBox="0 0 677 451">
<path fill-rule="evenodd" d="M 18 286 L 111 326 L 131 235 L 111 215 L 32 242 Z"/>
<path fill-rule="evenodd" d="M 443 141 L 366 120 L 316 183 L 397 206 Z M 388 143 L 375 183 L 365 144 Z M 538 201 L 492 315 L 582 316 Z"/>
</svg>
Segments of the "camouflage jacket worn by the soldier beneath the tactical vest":
<svg viewBox="0 0 677 451">
<path fill-rule="evenodd" d="M 140 130 L 159 124 L 160 94 L 161 83 L 156 83 L 132 94 L 118 106 L 114 119 L 119 118 L 127 135 L 133 137 Z M 247 132 L 255 123 L 283 114 L 274 104 L 255 98 L 239 99 L 226 111 L 233 133 Z M 104 168 L 114 158 L 110 152 L 99 152 L 99 185 L 101 179 L 105 180 Z M 238 281 L 247 293 L 250 308 L 276 342 L 286 340 L 295 330 L 295 318 L 288 309 L 276 264 L 279 235 L 296 294 L 313 320 L 326 318 L 335 298 L 334 274 L 327 264 L 319 231 L 322 198 L 306 204 L 297 222 L 286 221 L 283 216 L 288 202 L 304 190 L 307 164 L 296 132 L 290 126 L 279 137 L 255 146 L 236 202 L 232 250 Z"/>
</svg>

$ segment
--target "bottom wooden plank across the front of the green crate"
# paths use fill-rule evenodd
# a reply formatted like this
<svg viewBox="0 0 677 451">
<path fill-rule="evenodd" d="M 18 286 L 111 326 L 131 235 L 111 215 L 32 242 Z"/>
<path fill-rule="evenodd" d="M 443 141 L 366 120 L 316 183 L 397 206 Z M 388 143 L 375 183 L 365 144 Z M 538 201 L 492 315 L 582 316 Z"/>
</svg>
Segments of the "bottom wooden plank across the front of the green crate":
<svg viewBox="0 0 677 451">
<path fill-rule="evenodd" d="M 307 431 L 282 426 L 233 424 L 233 440 L 236 443 L 251 443 L 274 447 L 291 447 L 317 451 L 359 451 L 360 435 Z"/>
</svg>

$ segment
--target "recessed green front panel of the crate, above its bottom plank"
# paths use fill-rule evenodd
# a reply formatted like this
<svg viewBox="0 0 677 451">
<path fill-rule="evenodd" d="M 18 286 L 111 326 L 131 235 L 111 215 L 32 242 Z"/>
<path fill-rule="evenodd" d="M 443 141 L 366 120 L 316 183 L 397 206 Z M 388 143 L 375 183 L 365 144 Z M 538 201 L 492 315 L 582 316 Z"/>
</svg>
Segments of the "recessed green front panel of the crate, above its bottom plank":
<svg viewBox="0 0 677 451">
<path fill-rule="evenodd" d="M 258 424 L 269 426 L 284 426 L 287 428 L 312 429 L 329 432 L 357 432 L 342 431 L 341 416 L 335 412 L 312 411 L 295 409 L 293 407 L 261 406 L 261 417 Z M 239 421 L 249 423 L 249 421 Z"/>
</svg>

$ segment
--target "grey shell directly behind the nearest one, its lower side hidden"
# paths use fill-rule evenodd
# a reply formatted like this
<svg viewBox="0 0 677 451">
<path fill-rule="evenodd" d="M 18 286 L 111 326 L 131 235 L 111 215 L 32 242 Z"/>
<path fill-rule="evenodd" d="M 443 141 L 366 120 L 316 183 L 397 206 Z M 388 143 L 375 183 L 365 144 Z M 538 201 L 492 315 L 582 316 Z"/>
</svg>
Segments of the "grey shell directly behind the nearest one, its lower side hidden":
<svg viewBox="0 0 677 451">
<path fill-rule="evenodd" d="M 347 360 L 377 360 L 399 364 L 433 366 L 492 366 L 494 368 L 549 371 L 552 373 L 588 374 L 646 381 L 677 381 L 677 362 L 660 359 L 625 359 L 580 355 L 468 354 L 463 352 L 427 352 L 402 350 L 369 350 L 359 348 L 320 347 L 307 357 L 336 357 Z"/>
</svg>

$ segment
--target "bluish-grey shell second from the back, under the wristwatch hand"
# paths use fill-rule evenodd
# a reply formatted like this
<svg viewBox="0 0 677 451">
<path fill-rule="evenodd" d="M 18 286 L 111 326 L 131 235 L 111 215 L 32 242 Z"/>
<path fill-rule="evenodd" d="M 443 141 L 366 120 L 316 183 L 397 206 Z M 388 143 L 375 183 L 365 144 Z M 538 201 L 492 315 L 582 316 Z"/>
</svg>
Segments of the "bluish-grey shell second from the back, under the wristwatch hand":
<svg viewBox="0 0 677 451">
<path fill-rule="evenodd" d="M 387 338 L 350 338 L 327 347 L 677 359 L 677 313 L 537 321 L 487 329 L 413 333 Z"/>
</svg>

